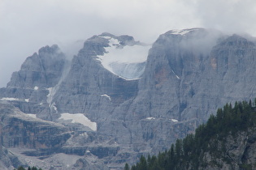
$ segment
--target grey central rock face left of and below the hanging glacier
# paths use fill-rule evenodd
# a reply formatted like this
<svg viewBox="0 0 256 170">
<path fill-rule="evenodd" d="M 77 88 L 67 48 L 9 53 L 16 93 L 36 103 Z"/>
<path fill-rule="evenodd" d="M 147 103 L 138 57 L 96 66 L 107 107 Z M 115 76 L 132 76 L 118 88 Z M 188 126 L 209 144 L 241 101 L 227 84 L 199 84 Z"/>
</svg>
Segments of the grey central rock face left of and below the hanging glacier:
<svg viewBox="0 0 256 170">
<path fill-rule="evenodd" d="M 104 47 L 109 45 L 102 36 L 115 37 L 122 45 L 134 42 L 130 36 L 106 33 L 86 40 L 51 101 L 58 108 L 56 117 L 59 113 L 85 113 L 92 120 L 102 121 L 116 106 L 137 95 L 137 80 L 122 79 L 98 61 L 98 55 L 106 53 Z"/>
</svg>

